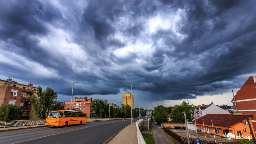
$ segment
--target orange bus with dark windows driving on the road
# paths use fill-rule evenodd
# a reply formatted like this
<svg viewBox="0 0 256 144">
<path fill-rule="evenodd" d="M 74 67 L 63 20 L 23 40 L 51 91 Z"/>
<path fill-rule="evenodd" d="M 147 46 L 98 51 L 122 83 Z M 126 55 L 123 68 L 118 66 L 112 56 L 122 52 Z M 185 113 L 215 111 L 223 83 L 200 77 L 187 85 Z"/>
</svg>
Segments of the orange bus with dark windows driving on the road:
<svg viewBox="0 0 256 144">
<path fill-rule="evenodd" d="M 63 126 L 86 123 L 86 113 L 75 110 L 49 110 L 45 125 Z"/>
</svg>

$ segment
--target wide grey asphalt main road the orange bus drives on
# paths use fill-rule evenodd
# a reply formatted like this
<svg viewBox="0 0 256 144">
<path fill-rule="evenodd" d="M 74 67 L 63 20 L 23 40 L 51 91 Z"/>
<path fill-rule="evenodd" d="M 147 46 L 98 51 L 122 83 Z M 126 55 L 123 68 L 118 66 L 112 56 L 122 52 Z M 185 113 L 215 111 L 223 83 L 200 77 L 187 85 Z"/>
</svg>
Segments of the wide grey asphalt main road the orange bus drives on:
<svg viewBox="0 0 256 144">
<path fill-rule="evenodd" d="M 135 122 L 136 119 L 133 121 Z M 112 139 L 117 132 L 131 124 L 131 120 L 113 120 L 89 122 L 82 125 L 68 125 L 67 127 L 44 127 L 14 132 L 0 133 L 0 143 L 106 143 Z"/>
</svg>

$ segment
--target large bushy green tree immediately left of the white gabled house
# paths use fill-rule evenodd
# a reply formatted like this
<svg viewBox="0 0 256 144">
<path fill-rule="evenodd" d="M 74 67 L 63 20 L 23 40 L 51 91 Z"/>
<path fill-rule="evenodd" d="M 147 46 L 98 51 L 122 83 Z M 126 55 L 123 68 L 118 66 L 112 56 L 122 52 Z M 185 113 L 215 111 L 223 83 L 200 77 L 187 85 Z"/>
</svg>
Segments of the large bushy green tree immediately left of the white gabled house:
<svg viewBox="0 0 256 144">
<path fill-rule="evenodd" d="M 184 111 L 186 112 L 186 118 L 188 119 L 188 121 L 191 121 L 190 108 L 193 108 L 193 104 L 188 105 L 188 103 L 183 101 L 180 106 L 177 106 L 172 110 L 170 115 L 170 118 L 172 119 L 171 122 L 185 123 L 184 113 L 182 113 Z"/>
</svg>

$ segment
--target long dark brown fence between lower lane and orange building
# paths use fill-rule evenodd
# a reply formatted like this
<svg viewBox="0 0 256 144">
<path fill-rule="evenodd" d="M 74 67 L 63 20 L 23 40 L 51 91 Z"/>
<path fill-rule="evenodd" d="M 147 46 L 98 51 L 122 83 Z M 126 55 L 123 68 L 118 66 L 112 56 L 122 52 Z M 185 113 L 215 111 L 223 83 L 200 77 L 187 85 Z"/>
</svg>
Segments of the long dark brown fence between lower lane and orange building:
<svg viewBox="0 0 256 144">
<path fill-rule="evenodd" d="M 179 141 L 181 144 L 188 144 L 188 138 L 187 137 L 181 137 L 180 135 L 168 130 L 164 126 L 162 126 L 164 131 L 168 133 L 170 136 L 172 136 L 174 139 Z M 189 138 L 190 144 L 196 144 L 196 139 Z M 210 140 L 200 140 L 200 144 L 241 144 L 239 141 L 221 141 L 221 142 L 215 142 Z"/>
</svg>

